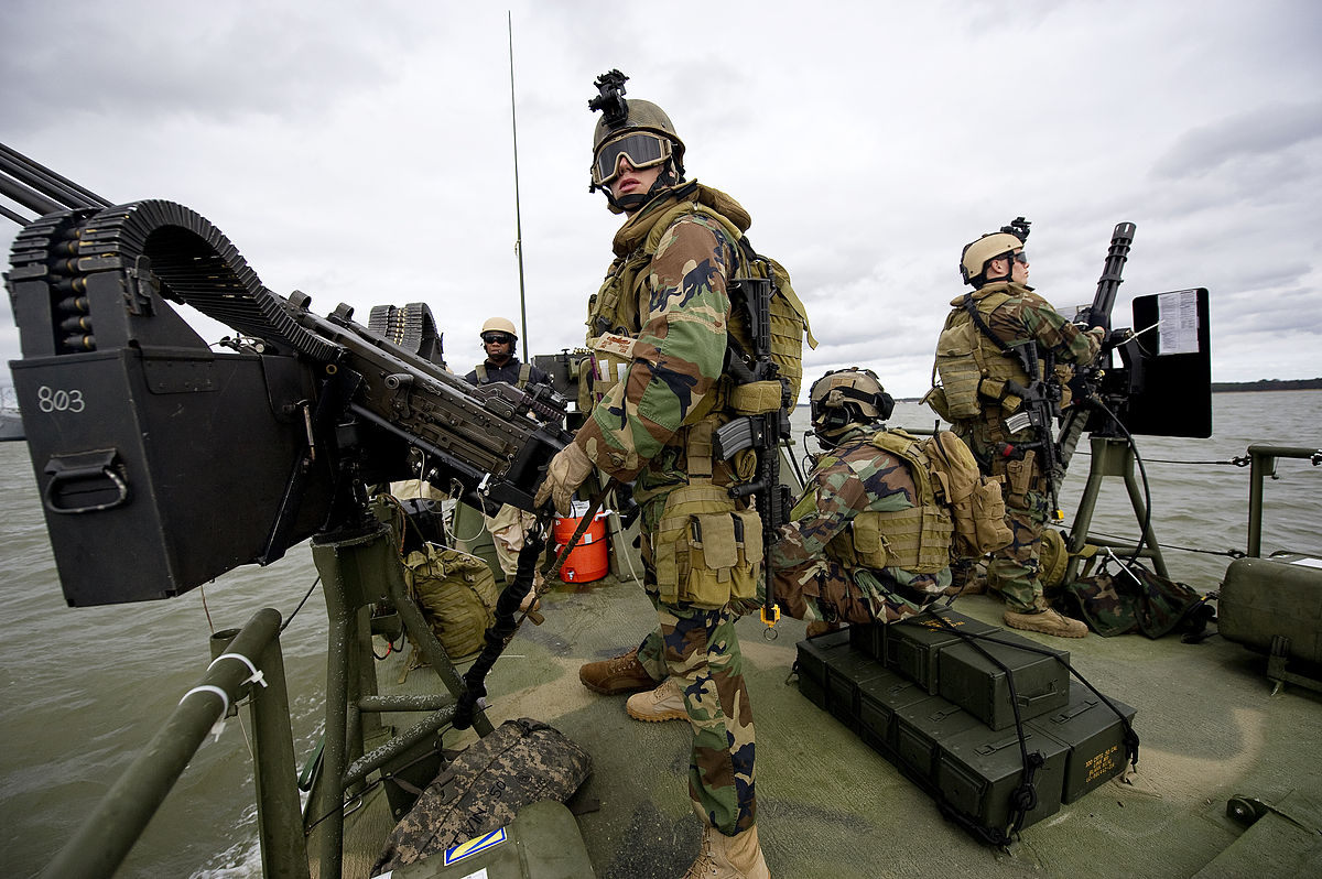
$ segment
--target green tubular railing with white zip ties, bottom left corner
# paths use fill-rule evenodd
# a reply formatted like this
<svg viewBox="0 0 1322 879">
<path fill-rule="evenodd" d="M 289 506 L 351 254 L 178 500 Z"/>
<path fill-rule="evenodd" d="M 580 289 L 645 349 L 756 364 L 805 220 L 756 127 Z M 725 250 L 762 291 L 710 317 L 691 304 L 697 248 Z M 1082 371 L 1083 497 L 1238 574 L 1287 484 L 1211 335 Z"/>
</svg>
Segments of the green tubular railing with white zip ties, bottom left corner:
<svg viewBox="0 0 1322 879">
<path fill-rule="evenodd" d="M 114 875 L 178 781 L 208 732 L 251 697 L 258 833 L 266 876 L 307 879 L 288 690 L 280 653 L 280 613 L 258 611 L 242 629 L 212 636 L 215 658 L 178 701 L 164 726 L 102 797 L 41 876 Z"/>
</svg>

